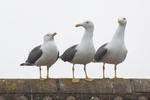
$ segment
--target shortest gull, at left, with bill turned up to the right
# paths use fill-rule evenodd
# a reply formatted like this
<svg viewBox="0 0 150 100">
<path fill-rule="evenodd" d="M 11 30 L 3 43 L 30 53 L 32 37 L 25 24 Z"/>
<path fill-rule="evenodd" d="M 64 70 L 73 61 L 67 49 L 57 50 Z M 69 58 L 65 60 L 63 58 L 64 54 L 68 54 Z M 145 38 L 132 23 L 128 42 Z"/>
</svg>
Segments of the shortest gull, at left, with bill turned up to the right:
<svg viewBox="0 0 150 100">
<path fill-rule="evenodd" d="M 47 79 L 49 78 L 49 68 L 57 61 L 59 57 L 59 51 L 54 41 L 56 32 L 44 35 L 44 42 L 32 49 L 28 59 L 25 63 L 20 64 L 21 66 L 38 66 L 41 77 L 41 66 L 47 66 Z"/>
</svg>

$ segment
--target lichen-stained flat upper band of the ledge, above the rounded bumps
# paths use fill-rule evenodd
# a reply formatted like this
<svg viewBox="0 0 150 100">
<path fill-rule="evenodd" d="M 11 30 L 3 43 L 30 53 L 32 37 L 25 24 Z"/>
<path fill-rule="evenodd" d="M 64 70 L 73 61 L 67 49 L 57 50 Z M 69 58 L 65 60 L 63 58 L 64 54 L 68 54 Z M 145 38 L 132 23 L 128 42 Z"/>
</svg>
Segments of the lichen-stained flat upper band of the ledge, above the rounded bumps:
<svg viewBox="0 0 150 100">
<path fill-rule="evenodd" d="M 81 79 L 0 79 L 0 93 L 101 93 L 131 94 L 150 93 L 149 79 L 95 79 L 88 82 Z"/>
</svg>

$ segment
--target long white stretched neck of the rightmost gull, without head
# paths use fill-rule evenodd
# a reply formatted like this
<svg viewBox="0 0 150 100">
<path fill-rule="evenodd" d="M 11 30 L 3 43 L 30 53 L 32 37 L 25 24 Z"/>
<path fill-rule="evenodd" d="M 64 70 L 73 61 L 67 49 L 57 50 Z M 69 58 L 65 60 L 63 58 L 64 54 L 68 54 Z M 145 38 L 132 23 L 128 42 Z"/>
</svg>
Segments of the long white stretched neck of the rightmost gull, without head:
<svg viewBox="0 0 150 100">
<path fill-rule="evenodd" d="M 126 24 L 119 24 L 117 30 L 116 30 L 116 33 L 115 35 L 113 36 L 111 42 L 113 41 L 116 41 L 119 39 L 120 42 L 123 42 L 124 43 L 124 32 L 125 32 L 125 27 L 126 27 Z"/>
</svg>

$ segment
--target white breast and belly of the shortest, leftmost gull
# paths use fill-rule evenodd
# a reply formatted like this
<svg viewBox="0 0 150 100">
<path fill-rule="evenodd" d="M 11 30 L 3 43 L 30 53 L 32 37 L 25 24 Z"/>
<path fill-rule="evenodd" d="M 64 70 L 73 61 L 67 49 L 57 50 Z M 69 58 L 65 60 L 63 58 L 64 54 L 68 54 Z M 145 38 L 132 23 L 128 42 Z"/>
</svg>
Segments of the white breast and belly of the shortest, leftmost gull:
<svg viewBox="0 0 150 100">
<path fill-rule="evenodd" d="M 52 64 L 56 62 L 58 56 L 57 47 L 51 43 L 47 43 L 41 47 L 42 56 L 36 61 L 37 66 L 48 66 L 50 67 Z"/>
</svg>

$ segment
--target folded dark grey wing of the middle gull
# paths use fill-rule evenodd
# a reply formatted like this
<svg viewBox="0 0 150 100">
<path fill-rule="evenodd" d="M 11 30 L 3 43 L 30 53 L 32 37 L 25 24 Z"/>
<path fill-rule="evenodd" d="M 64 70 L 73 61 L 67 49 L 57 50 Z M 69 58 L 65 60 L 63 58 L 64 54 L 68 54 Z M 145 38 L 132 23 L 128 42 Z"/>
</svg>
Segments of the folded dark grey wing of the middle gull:
<svg viewBox="0 0 150 100">
<path fill-rule="evenodd" d="M 68 48 L 60 57 L 63 61 L 71 61 L 77 52 L 76 49 L 77 45 L 73 45 L 72 47 Z"/>
</svg>

